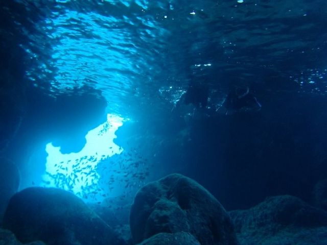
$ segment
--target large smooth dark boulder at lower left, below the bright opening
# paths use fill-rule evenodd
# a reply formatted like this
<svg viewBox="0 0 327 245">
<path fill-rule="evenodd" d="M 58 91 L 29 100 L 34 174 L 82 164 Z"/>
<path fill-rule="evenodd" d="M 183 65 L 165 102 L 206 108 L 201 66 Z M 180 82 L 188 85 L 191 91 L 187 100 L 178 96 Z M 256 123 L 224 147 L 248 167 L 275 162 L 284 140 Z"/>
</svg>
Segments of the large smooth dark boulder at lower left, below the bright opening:
<svg viewBox="0 0 327 245">
<path fill-rule="evenodd" d="M 9 202 L 3 226 L 21 242 L 125 244 L 82 200 L 56 188 L 32 187 L 17 192 Z"/>
</svg>

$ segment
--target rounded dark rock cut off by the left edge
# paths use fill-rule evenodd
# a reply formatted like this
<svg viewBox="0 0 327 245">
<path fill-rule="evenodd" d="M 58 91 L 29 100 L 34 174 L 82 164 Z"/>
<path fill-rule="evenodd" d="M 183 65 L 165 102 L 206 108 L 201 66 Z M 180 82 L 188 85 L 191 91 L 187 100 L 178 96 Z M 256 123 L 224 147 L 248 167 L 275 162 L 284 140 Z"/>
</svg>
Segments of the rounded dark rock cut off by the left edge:
<svg viewBox="0 0 327 245">
<path fill-rule="evenodd" d="M 0 225 L 9 199 L 18 190 L 19 182 L 18 167 L 9 159 L 0 158 Z"/>
</svg>

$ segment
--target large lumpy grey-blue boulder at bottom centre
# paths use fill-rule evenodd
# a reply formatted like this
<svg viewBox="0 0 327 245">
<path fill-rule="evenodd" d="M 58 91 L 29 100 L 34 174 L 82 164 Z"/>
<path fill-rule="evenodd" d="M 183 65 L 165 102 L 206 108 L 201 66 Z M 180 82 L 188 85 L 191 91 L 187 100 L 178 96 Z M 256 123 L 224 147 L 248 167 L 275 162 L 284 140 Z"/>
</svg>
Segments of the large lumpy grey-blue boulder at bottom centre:
<svg viewBox="0 0 327 245">
<path fill-rule="evenodd" d="M 158 238 L 153 236 L 159 233 L 171 235 L 160 235 L 167 242 L 158 244 L 171 244 L 169 240 L 179 232 L 190 233 L 202 245 L 237 244 L 223 206 L 197 182 L 179 174 L 151 182 L 137 192 L 130 212 L 130 228 L 134 244 L 155 244 Z M 177 235 L 178 239 L 191 239 L 183 234 Z M 147 238 L 150 239 L 144 241 Z"/>
</svg>

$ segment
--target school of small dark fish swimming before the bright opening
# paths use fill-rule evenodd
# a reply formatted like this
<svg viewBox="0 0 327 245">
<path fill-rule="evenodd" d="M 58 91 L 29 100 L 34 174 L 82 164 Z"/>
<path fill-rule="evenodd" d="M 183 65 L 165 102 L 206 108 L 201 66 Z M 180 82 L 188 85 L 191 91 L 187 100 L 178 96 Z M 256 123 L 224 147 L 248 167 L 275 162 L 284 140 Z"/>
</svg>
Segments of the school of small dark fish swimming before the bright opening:
<svg viewBox="0 0 327 245">
<path fill-rule="evenodd" d="M 95 165 L 96 161 L 100 162 Z M 107 155 L 83 156 L 75 161 L 55 164 L 56 174 L 46 172 L 51 181 L 44 181 L 44 186 L 51 184 L 57 188 L 74 192 L 78 197 L 100 204 L 111 197 L 114 190 L 120 191 L 120 198 L 134 195 L 137 189 L 146 183 L 153 164 L 138 153 L 136 148 L 124 150 L 111 157 Z M 49 178 L 48 178 L 49 179 Z M 76 186 L 80 186 L 76 192 Z"/>
</svg>

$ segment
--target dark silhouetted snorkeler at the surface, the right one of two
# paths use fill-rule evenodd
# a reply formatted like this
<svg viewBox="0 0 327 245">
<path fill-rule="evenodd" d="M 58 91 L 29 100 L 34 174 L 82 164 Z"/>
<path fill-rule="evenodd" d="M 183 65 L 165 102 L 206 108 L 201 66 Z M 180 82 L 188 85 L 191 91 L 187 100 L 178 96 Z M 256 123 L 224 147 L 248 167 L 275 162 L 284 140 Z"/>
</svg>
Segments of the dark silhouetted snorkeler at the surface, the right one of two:
<svg viewBox="0 0 327 245">
<path fill-rule="evenodd" d="M 236 111 L 259 111 L 262 107 L 247 86 L 233 88 L 227 94 L 223 106 L 226 108 L 226 115 L 233 114 Z"/>
</svg>

